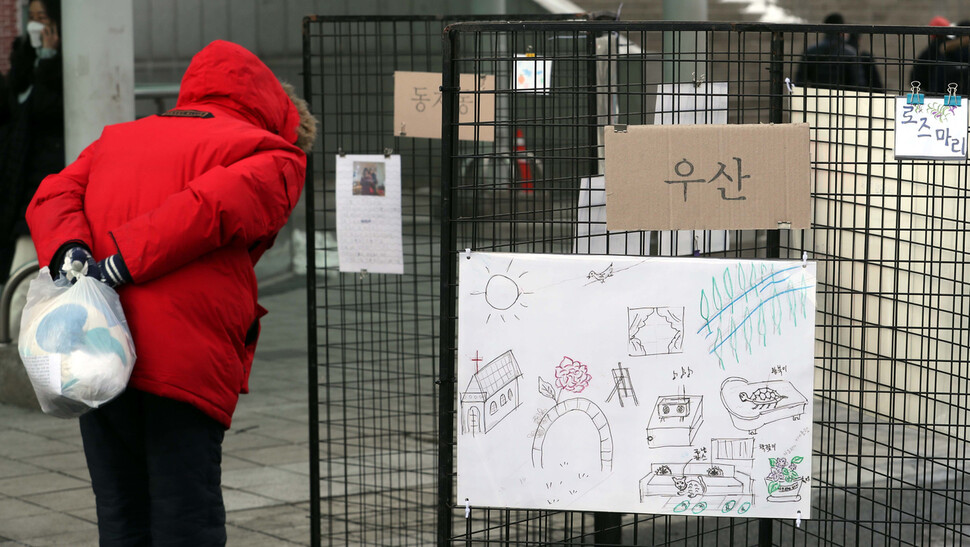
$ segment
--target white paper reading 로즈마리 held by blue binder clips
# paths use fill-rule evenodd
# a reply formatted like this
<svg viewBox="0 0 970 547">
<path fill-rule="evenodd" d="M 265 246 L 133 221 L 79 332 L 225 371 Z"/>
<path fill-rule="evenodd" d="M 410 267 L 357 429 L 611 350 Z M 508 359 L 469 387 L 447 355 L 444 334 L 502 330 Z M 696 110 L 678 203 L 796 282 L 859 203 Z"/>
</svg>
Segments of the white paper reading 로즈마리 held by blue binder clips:
<svg viewBox="0 0 970 547">
<path fill-rule="evenodd" d="M 967 106 L 947 106 L 943 97 L 907 104 L 896 98 L 896 159 L 967 159 Z"/>
</svg>

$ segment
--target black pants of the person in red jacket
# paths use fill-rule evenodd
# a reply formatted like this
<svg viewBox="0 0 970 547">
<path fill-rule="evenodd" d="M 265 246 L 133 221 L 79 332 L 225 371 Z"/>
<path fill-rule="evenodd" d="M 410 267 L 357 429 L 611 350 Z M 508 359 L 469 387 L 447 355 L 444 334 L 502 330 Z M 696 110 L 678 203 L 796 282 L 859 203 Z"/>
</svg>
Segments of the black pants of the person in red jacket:
<svg viewBox="0 0 970 547">
<path fill-rule="evenodd" d="M 130 388 L 80 422 L 101 547 L 226 544 L 221 424 Z"/>
</svg>

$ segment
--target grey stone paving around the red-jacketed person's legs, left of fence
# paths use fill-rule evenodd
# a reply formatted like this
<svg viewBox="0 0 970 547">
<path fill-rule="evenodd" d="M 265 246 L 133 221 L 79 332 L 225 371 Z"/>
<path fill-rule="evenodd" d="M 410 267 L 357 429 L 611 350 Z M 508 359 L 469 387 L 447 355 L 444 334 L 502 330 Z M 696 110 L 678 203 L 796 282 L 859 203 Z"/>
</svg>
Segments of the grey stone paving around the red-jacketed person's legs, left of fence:
<svg viewBox="0 0 970 547">
<path fill-rule="evenodd" d="M 310 544 L 306 290 L 263 283 L 269 310 L 223 445 L 229 545 Z M 98 544 L 77 420 L 0 404 L 0 547 Z"/>
</svg>

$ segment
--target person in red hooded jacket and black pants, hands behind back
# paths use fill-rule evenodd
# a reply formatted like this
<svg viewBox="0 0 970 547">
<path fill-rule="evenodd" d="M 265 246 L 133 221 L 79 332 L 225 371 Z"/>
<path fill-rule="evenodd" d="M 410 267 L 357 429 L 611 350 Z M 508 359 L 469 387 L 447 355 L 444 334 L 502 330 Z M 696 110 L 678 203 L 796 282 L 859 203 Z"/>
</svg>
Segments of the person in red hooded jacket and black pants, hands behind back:
<svg viewBox="0 0 970 547">
<path fill-rule="evenodd" d="M 222 439 L 265 314 L 253 266 L 314 133 L 292 88 L 215 41 L 174 110 L 106 127 L 34 195 L 41 264 L 115 286 L 137 352 L 128 389 L 80 418 L 102 546 L 225 544 Z"/>
</svg>

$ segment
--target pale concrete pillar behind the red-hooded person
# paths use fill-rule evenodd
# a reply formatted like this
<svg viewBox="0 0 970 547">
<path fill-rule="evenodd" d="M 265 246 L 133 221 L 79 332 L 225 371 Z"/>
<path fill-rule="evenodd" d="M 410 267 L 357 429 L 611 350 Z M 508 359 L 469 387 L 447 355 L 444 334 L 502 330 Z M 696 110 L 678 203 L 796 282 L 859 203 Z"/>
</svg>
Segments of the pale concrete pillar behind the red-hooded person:
<svg viewBox="0 0 970 547">
<path fill-rule="evenodd" d="M 68 163 L 104 126 L 135 119 L 132 0 L 62 2 L 64 148 Z"/>
</svg>

